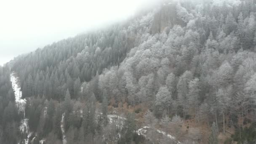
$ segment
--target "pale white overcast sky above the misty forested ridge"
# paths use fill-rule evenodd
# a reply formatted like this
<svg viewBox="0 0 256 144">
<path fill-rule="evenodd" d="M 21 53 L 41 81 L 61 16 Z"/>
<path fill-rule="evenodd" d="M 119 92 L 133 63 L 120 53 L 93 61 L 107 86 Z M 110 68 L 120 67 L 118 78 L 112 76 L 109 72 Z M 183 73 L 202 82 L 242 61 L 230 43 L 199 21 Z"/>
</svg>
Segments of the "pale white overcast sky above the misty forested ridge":
<svg viewBox="0 0 256 144">
<path fill-rule="evenodd" d="M 0 0 L 0 65 L 88 29 L 132 16 L 156 0 Z"/>
</svg>

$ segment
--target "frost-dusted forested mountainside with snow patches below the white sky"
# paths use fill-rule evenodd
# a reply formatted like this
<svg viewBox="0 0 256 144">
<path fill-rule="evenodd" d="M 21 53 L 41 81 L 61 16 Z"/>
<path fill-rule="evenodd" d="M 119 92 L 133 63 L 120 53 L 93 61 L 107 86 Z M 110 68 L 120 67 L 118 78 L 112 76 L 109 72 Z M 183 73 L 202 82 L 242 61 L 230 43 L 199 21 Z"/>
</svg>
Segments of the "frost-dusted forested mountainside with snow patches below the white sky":
<svg viewBox="0 0 256 144">
<path fill-rule="evenodd" d="M 256 0 L 160 1 L 0 67 L 0 144 L 255 143 Z"/>
</svg>

